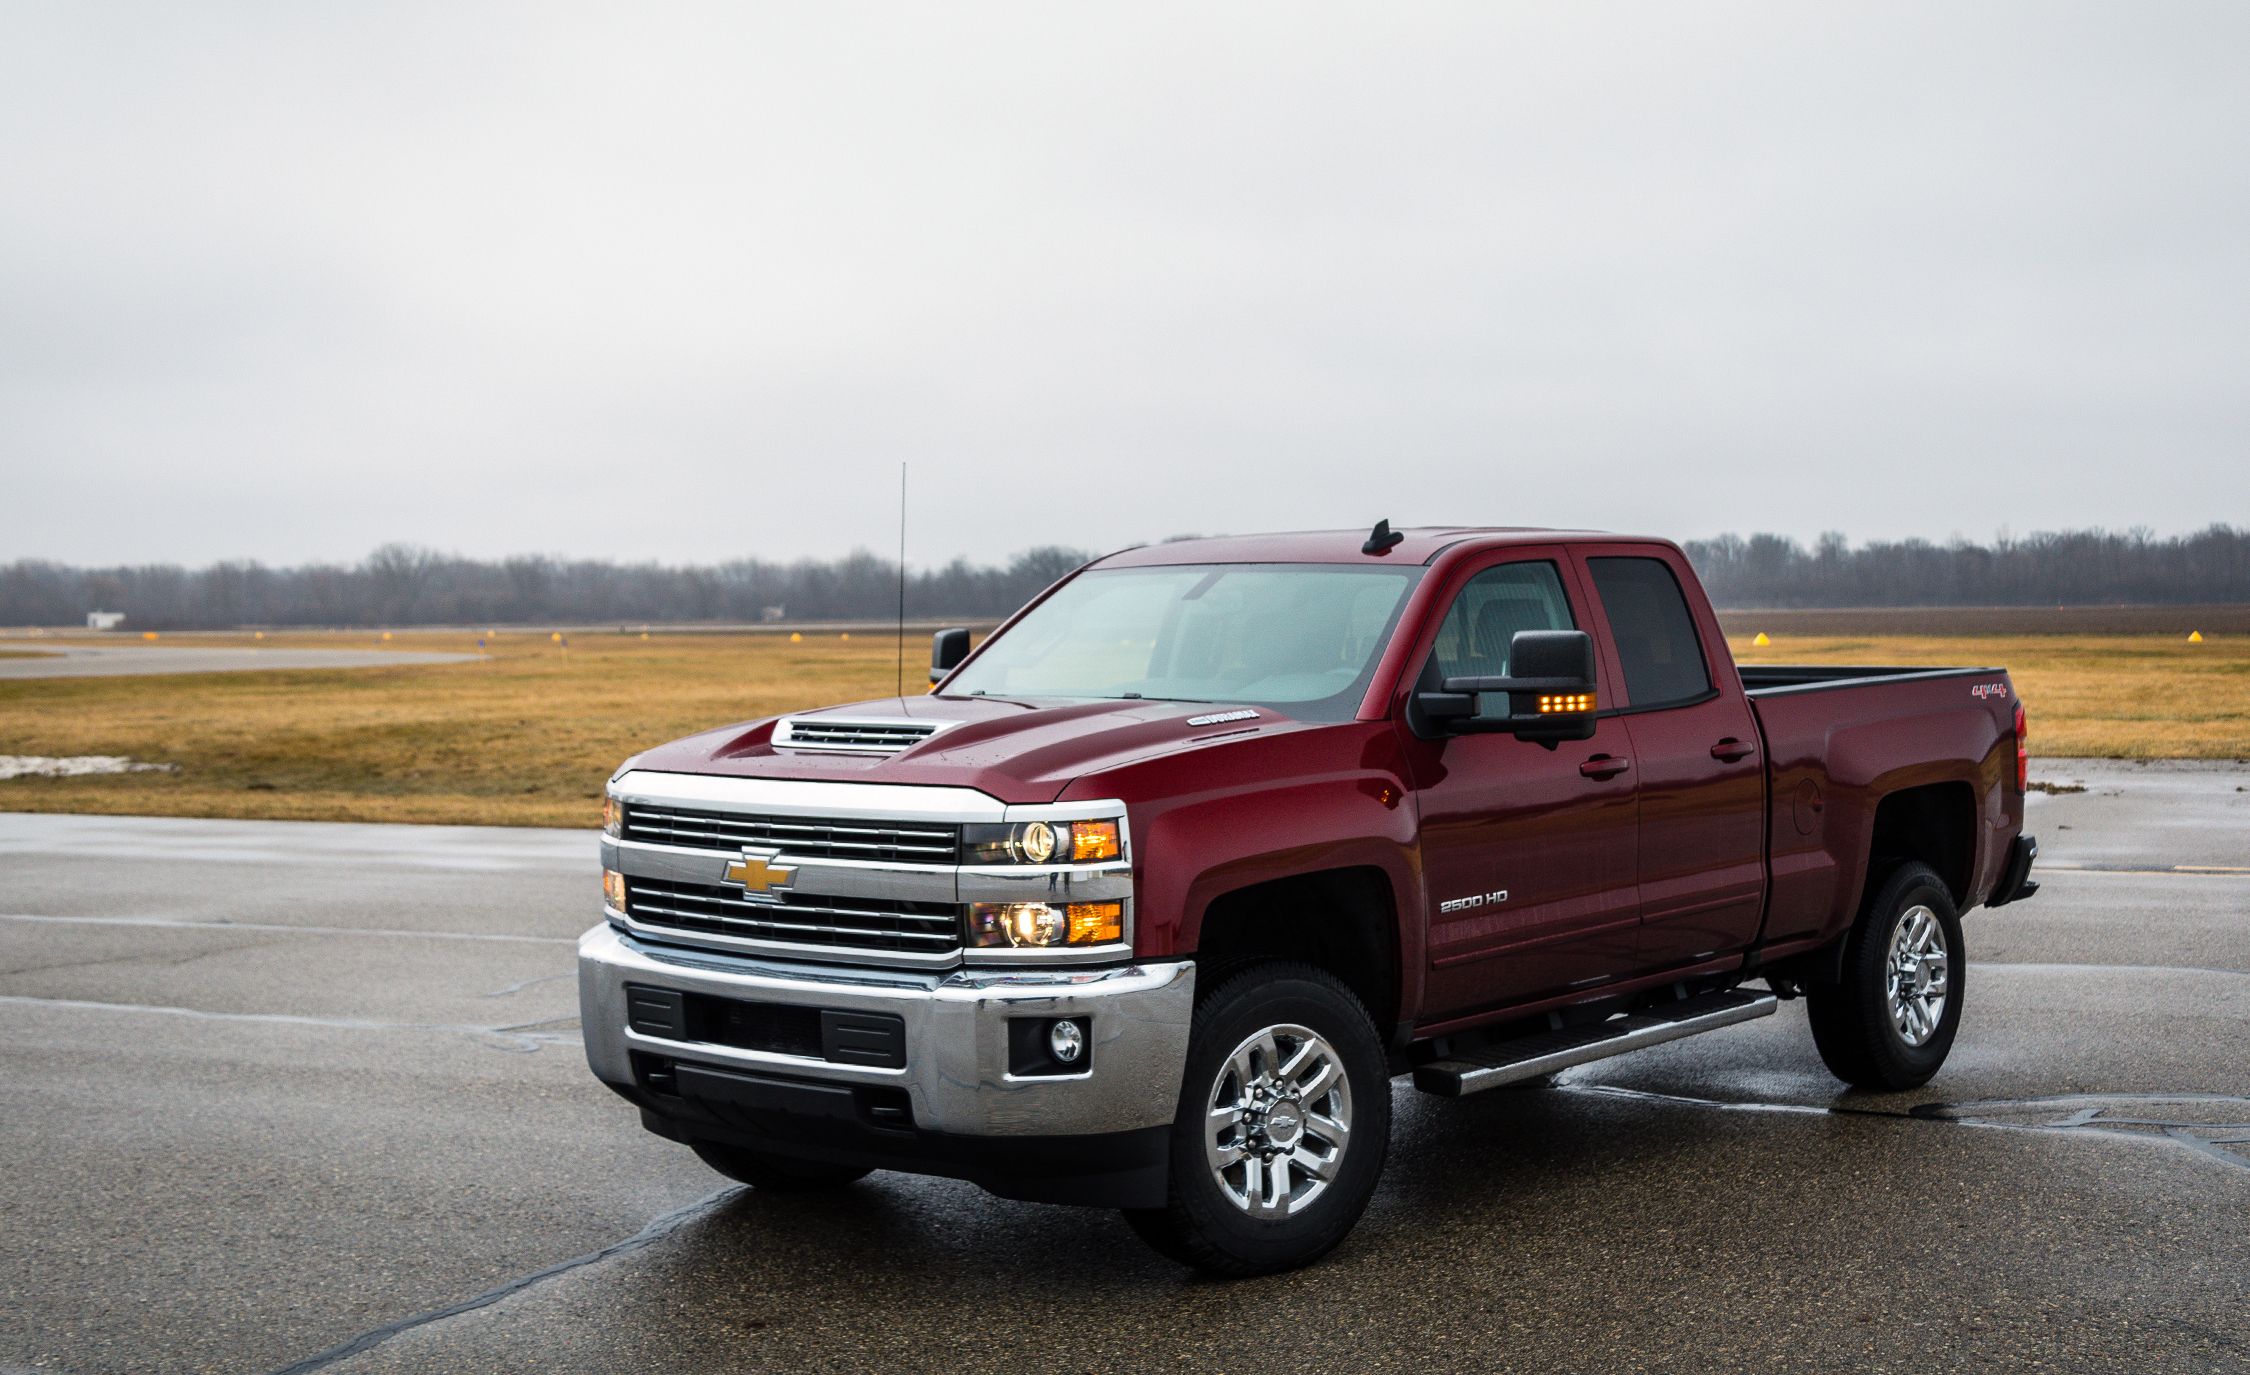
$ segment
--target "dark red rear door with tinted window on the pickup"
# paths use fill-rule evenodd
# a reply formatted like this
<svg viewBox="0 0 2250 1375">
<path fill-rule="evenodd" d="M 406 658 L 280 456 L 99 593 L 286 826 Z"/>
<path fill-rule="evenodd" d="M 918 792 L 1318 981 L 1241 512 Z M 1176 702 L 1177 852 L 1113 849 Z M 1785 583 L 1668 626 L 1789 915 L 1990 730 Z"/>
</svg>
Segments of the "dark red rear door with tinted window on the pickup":
<svg viewBox="0 0 2250 1375">
<path fill-rule="evenodd" d="M 1766 774 L 1757 722 L 1732 675 L 1719 623 L 1678 551 L 1660 545 L 1575 554 L 1618 664 L 1640 776 L 1642 968 L 1746 947 L 1766 896 Z"/>
</svg>

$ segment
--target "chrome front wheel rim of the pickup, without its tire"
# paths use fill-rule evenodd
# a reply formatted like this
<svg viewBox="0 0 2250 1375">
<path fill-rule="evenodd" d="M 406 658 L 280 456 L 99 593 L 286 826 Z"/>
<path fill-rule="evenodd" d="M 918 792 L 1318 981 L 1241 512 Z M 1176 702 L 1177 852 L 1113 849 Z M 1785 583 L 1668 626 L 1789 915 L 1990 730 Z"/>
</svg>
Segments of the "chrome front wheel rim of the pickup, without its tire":
<svg viewBox="0 0 2250 1375">
<path fill-rule="evenodd" d="M 1267 1026 L 1220 1064 L 1204 1159 L 1251 1217 L 1289 1217 L 1336 1179 L 1352 1141 L 1352 1085 L 1336 1046 L 1307 1026 Z"/>
</svg>

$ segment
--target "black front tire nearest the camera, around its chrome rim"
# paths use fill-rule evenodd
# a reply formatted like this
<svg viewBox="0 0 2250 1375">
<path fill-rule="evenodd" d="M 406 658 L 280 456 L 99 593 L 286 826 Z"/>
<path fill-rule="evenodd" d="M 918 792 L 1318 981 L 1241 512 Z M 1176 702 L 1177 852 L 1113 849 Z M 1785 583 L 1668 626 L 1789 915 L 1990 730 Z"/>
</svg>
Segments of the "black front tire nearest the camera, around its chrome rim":
<svg viewBox="0 0 2250 1375">
<path fill-rule="evenodd" d="M 1260 1123 L 1256 1132 L 1224 1127 L 1233 1134 L 1231 1145 L 1246 1145 L 1244 1154 L 1280 1152 L 1274 1139 L 1287 1132 L 1292 1143 L 1303 1145 L 1314 1157 L 1330 1148 L 1336 1154 L 1334 1175 L 1325 1181 L 1318 1175 L 1298 1172 L 1298 1179 L 1310 1177 L 1318 1184 L 1296 1204 L 1300 1211 L 1253 1217 L 1231 1193 L 1238 1184 L 1222 1179 L 1222 1172 L 1206 1157 L 1206 1116 L 1213 1096 L 1240 1078 L 1228 1069 L 1235 1064 L 1235 1051 L 1267 1028 L 1310 1031 L 1325 1042 L 1325 1051 L 1316 1049 L 1314 1064 L 1305 1069 L 1305 1076 L 1314 1078 L 1278 1080 L 1282 1096 L 1262 1112 L 1253 1112 Z M 1307 1040 L 1289 1035 L 1274 1044 L 1282 1051 L 1282 1060 L 1289 1060 L 1296 1049 L 1310 1046 Z M 1258 1051 L 1251 1051 L 1251 1058 L 1264 1060 Z M 1332 1058 L 1339 1071 L 1341 1098 L 1330 1096 L 1332 1080 L 1328 1085 L 1318 1080 L 1316 1062 L 1323 1058 Z M 1249 1100 L 1246 1094 L 1244 1100 Z M 1336 1116 L 1339 1109 L 1341 1116 Z M 1330 1132 L 1343 1118 L 1348 1118 L 1350 1130 L 1339 1145 Z M 1274 1136 L 1264 1136 L 1267 1127 Z M 1161 1208 L 1127 1211 L 1125 1220 L 1159 1253 L 1206 1274 L 1238 1278 L 1296 1269 L 1332 1251 L 1352 1231 L 1375 1193 L 1375 1179 L 1384 1170 L 1388 1148 L 1390 1076 L 1386 1073 L 1382 1037 L 1375 1033 L 1368 1010 L 1343 983 L 1312 965 L 1253 965 L 1231 972 L 1197 999 L 1179 1116 L 1172 1121 L 1170 1197 Z M 1267 1170 L 1264 1175 L 1242 1175 L 1240 1193 L 1262 1199 L 1276 1197 L 1271 1181 L 1276 1175 L 1289 1177 L 1289 1159 L 1298 1157 L 1280 1154 L 1282 1170 L 1262 1161 L 1256 1168 Z M 1231 1170 L 1242 1168 L 1246 1166 L 1231 1166 Z"/>
</svg>

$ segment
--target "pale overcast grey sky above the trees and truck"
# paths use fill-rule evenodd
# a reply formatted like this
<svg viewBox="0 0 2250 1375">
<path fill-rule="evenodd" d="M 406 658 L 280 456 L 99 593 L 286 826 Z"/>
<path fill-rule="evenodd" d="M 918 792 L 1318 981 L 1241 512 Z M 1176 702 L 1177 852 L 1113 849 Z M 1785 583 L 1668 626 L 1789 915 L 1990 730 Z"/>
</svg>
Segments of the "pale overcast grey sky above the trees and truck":
<svg viewBox="0 0 2250 1375">
<path fill-rule="evenodd" d="M 2250 520 L 2239 2 L 0 34 L 0 558 Z"/>
</svg>

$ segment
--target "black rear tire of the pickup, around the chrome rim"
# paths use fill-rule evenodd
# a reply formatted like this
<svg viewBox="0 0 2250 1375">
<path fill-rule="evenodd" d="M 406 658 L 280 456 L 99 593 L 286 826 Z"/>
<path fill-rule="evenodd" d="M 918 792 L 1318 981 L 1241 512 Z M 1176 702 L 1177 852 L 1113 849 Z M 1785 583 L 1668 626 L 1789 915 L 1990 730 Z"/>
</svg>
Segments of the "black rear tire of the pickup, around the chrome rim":
<svg viewBox="0 0 2250 1375">
<path fill-rule="evenodd" d="M 1944 941 L 1944 1006 L 1917 1044 L 1892 1013 L 1890 959 L 1892 934 L 1910 914 L 1922 911 L 1935 920 Z M 1858 923 L 1845 936 L 1838 979 L 1804 986 L 1804 1013 L 1814 1024 L 1820 1060 L 1836 1078 L 1861 1089 L 1897 1091 L 1930 1082 L 1962 1022 L 1966 968 L 1962 918 L 1944 880 L 1928 864 L 1899 864 L 1879 875 Z M 1919 1013 L 1908 1008 L 1906 1015 L 1912 1019 Z"/>
</svg>

